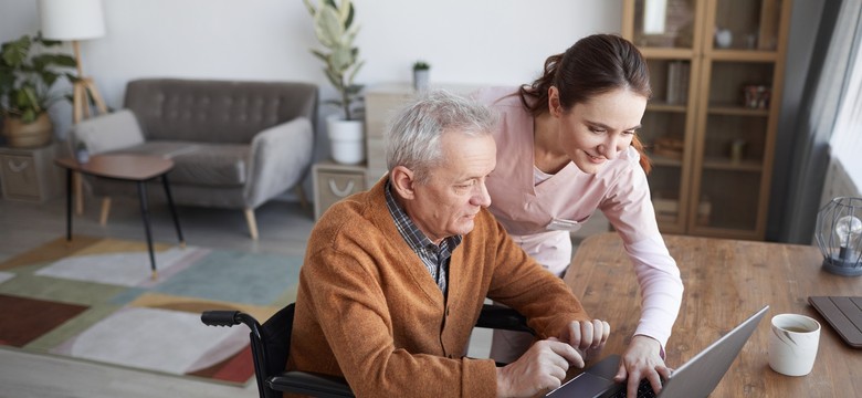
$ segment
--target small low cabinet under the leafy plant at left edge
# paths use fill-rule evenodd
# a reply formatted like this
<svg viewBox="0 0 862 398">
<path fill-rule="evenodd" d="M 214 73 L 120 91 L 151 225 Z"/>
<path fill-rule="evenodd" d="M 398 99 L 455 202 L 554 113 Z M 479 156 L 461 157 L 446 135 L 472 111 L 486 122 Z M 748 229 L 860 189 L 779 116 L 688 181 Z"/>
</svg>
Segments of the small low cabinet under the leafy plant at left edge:
<svg viewBox="0 0 862 398">
<path fill-rule="evenodd" d="M 3 198 L 43 202 L 60 192 L 56 145 L 24 149 L 0 148 Z"/>
</svg>

